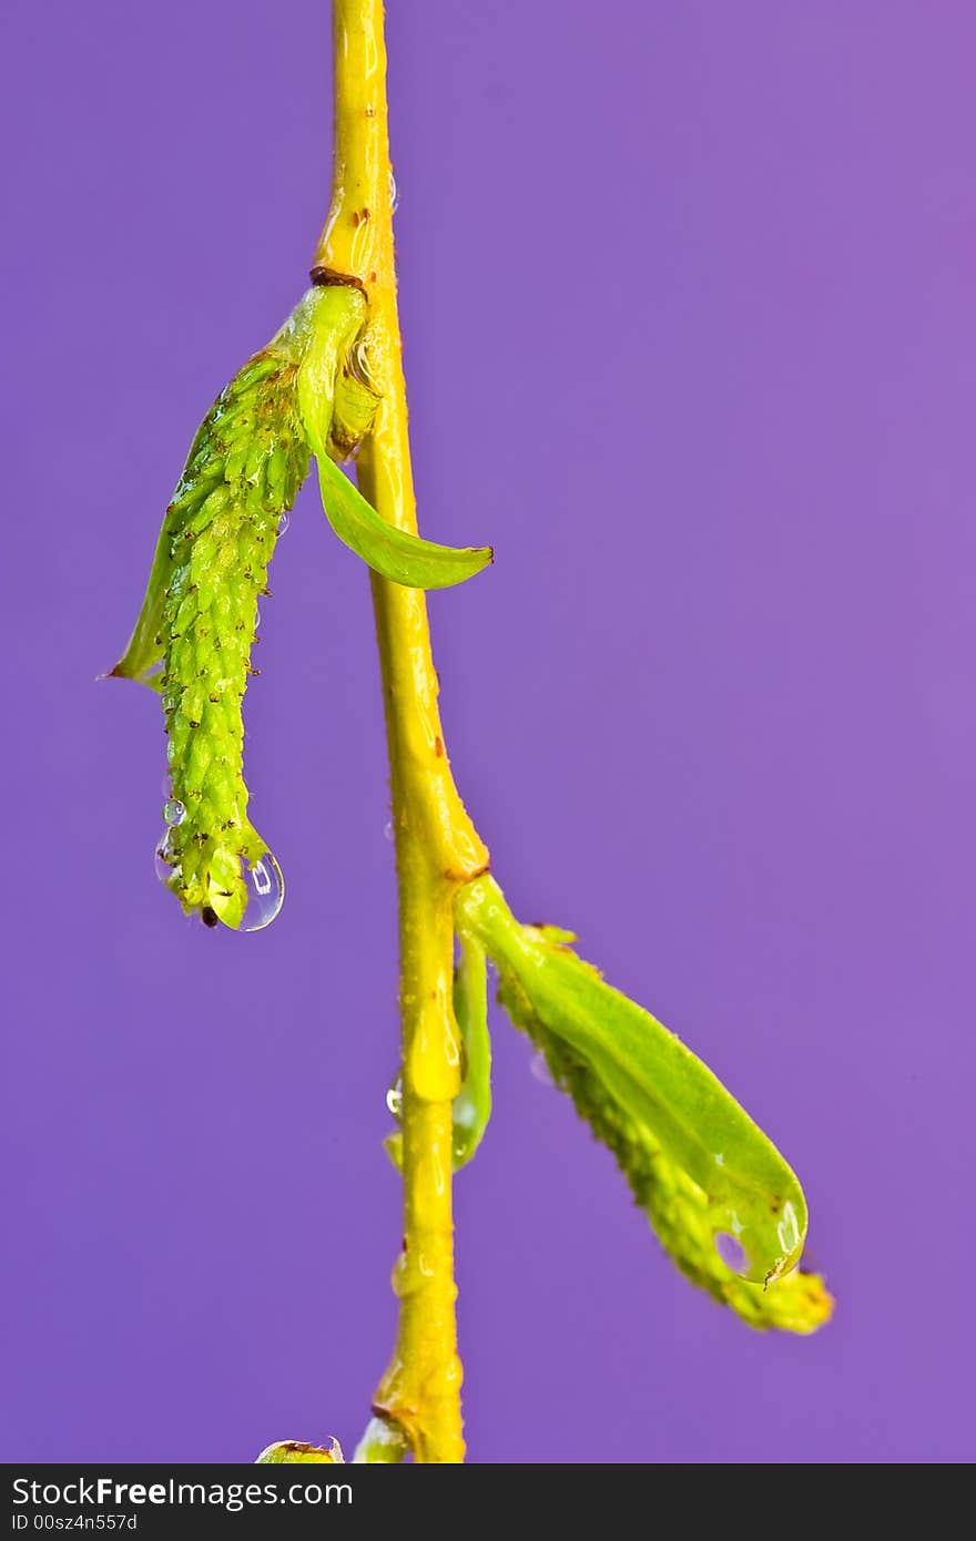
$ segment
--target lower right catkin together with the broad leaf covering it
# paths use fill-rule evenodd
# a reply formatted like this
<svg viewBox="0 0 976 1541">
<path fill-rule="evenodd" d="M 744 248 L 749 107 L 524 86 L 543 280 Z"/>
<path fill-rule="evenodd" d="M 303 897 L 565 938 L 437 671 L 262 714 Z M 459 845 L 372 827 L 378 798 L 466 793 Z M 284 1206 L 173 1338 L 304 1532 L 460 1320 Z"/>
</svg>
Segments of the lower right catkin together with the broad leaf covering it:
<svg viewBox="0 0 976 1541">
<path fill-rule="evenodd" d="M 678 1268 L 752 1325 L 825 1322 L 822 1281 L 797 1271 L 803 1190 L 708 1066 L 578 957 L 570 932 L 520 925 L 490 875 L 463 888 L 456 909 L 512 1022 L 612 1150 Z"/>
</svg>

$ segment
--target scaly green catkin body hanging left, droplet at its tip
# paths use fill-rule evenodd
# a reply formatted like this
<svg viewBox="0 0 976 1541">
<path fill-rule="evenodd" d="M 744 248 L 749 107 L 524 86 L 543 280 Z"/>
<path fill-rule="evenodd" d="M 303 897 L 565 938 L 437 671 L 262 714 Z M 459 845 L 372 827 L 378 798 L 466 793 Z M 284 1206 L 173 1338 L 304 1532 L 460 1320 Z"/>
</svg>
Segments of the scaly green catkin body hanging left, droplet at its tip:
<svg viewBox="0 0 976 1541">
<path fill-rule="evenodd" d="M 242 703 L 278 525 L 308 468 L 296 373 L 294 361 L 262 354 L 245 365 L 208 413 L 167 516 L 160 687 L 185 812 L 159 855 L 183 909 L 233 928 L 250 885 L 271 898 L 281 888 L 247 814 Z"/>
</svg>

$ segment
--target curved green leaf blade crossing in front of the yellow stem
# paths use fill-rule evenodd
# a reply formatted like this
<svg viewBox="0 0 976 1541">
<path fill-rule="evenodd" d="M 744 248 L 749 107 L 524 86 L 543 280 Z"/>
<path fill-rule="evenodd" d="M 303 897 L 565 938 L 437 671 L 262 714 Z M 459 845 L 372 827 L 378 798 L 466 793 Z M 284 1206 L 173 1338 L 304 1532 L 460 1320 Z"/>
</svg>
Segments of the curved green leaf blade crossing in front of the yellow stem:
<svg viewBox="0 0 976 1541">
<path fill-rule="evenodd" d="M 449 589 L 492 561 L 490 546 L 435 546 L 381 519 L 335 461 L 318 455 L 325 518 L 339 539 L 390 582 L 407 589 Z"/>
</svg>

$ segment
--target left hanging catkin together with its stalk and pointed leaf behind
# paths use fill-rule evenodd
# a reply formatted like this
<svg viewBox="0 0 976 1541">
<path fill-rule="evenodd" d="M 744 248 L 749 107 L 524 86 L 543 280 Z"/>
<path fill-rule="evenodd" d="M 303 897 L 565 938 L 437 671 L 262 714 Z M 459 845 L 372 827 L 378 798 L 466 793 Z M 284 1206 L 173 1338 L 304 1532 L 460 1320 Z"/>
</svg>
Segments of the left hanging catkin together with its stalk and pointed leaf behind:
<svg viewBox="0 0 976 1541">
<path fill-rule="evenodd" d="M 113 670 L 162 695 L 171 798 L 157 868 L 208 925 L 257 929 L 281 906 L 281 869 L 248 818 L 242 703 L 257 673 L 257 598 L 311 439 L 348 450 L 369 430 L 370 401 L 376 407 L 352 382 L 335 419 L 336 382 L 364 319 L 356 290 L 310 290 L 220 391 L 190 447 L 136 630 Z"/>
</svg>

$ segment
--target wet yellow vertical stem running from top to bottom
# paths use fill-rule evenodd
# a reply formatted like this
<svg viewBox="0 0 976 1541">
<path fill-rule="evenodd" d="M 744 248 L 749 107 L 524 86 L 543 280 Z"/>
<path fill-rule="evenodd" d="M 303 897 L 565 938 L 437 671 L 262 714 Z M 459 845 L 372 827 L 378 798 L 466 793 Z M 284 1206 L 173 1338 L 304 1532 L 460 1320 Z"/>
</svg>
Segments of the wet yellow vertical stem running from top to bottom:
<svg viewBox="0 0 976 1541">
<path fill-rule="evenodd" d="M 390 524 L 416 533 L 393 256 L 381 0 L 335 0 L 335 180 L 313 267 L 358 282 L 364 353 L 381 394 L 358 481 Z M 426 596 L 372 576 L 382 675 L 399 895 L 404 1241 L 393 1273 L 396 1344 L 358 1461 L 464 1459 L 452 1222 L 452 1099 L 459 1037 L 452 1006 L 458 888 L 487 869 L 453 784 L 438 712 Z"/>
</svg>

